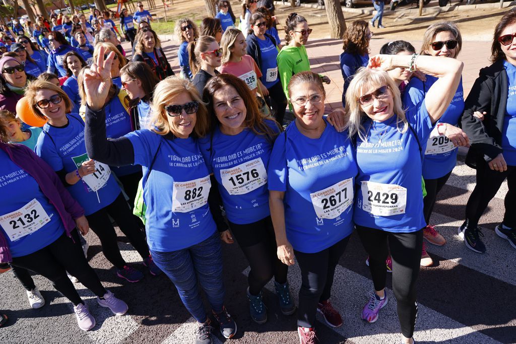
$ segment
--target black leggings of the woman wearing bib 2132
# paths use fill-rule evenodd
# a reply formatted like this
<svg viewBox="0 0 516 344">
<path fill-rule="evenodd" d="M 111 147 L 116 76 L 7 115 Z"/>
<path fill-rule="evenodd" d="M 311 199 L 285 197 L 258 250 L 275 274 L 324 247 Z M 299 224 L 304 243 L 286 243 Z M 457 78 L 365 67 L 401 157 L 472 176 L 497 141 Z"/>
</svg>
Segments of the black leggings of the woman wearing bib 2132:
<svg viewBox="0 0 516 344">
<path fill-rule="evenodd" d="M 103 297 L 106 289 L 84 257 L 77 231 L 72 231 L 71 235 L 72 239 L 63 233 L 56 241 L 39 251 L 22 257 L 13 257 L 11 265 L 46 277 L 57 291 L 76 306 L 84 302 L 68 278 L 67 271 L 98 297 Z"/>
</svg>

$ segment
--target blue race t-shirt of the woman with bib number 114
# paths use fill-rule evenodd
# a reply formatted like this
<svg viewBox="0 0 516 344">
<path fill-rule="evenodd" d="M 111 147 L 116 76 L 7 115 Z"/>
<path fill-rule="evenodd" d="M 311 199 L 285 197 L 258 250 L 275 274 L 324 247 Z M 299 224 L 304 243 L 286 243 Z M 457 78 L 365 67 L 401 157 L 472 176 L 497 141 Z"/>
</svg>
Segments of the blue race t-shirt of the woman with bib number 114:
<svg viewBox="0 0 516 344">
<path fill-rule="evenodd" d="M 67 117 L 68 124 L 60 128 L 46 123 L 36 144 L 36 154 L 56 172 L 62 169 L 66 173 L 75 171 L 81 163 L 89 159 L 84 143 L 83 120 L 77 113 L 70 113 Z M 97 179 L 95 186 L 99 187 L 98 191 L 93 191 L 86 184 L 85 177 L 67 187 L 73 198 L 84 208 L 85 215 L 91 215 L 108 206 L 120 194 L 120 187 L 110 174 L 109 167 L 99 162 L 95 162 L 95 166 L 97 171 L 91 175 L 93 177 L 87 179 Z"/>
</svg>

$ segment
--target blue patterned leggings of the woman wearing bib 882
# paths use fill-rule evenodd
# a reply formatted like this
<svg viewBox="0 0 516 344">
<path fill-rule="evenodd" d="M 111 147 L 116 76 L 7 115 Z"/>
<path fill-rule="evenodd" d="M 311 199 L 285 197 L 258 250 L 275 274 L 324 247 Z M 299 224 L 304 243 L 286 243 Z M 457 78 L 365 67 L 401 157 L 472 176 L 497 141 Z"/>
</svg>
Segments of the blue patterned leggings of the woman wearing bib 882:
<svg viewBox="0 0 516 344">
<path fill-rule="evenodd" d="M 222 283 L 222 248 L 217 232 L 187 249 L 151 251 L 151 255 L 158 268 L 174 283 L 181 301 L 198 322 L 207 319 L 198 280 L 212 309 L 216 313 L 222 311 L 225 290 Z"/>
</svg>

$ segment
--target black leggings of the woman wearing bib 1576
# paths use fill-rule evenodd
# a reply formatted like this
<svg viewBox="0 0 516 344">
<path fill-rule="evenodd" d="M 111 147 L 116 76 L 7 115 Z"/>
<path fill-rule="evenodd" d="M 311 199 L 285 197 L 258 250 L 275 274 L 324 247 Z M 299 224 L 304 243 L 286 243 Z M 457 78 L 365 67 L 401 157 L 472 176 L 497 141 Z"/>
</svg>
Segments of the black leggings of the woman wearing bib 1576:
<svg viewBox="0 0 516 344">
<path fill-rule="evenodd" d="M 258 295 L 272 276 L 278 283 L 287 281 L 288 267 L 276 254 L 276 237 L 270 216 L 249 224 L 230 222 L 230 228 L 249 261 L 251 271 L 247 281 L 251 295 Z"/>
</svg>

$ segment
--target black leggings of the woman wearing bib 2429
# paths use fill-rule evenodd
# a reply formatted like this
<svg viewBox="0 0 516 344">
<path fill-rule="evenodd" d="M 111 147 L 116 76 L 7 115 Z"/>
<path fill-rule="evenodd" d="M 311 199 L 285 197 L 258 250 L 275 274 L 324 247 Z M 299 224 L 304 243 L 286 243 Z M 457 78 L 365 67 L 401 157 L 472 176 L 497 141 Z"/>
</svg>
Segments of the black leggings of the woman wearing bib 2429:
<svg viewBox="0 0 516 344">
<path fill-rule="evenodd" d="M 417 316 L 416 280 L 420 271 L 423 230 L 412 233 L 390 233 L 356 225 L 360 241 L 369 254 L 369 271 L 375 290 L 385 288 L 385 258 L 392 257 L 392 286 L 398 306 L 401 333 L 412 338 Z"/>
</svg>

